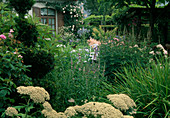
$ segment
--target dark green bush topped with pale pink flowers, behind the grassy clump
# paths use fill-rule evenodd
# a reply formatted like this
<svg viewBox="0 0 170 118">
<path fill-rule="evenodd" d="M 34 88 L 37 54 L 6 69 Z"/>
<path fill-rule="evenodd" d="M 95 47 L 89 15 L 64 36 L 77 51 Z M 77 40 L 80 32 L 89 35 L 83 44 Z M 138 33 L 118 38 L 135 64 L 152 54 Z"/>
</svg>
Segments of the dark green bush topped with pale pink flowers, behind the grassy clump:
<svg viewBox="0 0 170 118">
<path fill-rule="evenodd" d="M 108 77 L 110 82 L 114 81 L 114 73 L 122 72 L 124 67 L 131 67 L 133 64 L 138 64 L 137 62 L 145 67 L 149 63 L 150 48 L 144 47 L 144 45 L 140 47 L 115 40 L 110 40 L 110 43 L 101 45 L 100 62 L 101 65 L 105 66 L 105 76 Z"/>
</svg>

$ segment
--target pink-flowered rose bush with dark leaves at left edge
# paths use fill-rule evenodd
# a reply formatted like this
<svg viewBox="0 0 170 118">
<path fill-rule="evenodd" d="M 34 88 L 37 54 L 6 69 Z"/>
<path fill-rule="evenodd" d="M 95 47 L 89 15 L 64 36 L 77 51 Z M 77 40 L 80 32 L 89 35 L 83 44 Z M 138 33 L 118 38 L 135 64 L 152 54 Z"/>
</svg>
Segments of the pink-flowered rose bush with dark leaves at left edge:
<svg viewBox="0 0 170 118">
<path fill-rule="evenodd" d="M 17 100 L 16 86 L 31 85 L 31 78 L 25 74 L 29 66 L 23 64 L 20 53 L 22 44 L 18 47 L 14 41 L 5 35 L 0 37 L 0 114 Z"/>
</svg>

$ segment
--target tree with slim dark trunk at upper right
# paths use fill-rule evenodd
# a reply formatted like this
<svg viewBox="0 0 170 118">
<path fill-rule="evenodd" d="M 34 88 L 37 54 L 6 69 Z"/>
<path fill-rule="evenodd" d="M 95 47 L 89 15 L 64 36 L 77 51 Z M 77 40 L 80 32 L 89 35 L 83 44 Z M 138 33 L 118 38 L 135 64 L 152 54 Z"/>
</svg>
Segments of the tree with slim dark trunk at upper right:
<svg viewBox="0 0 170 118">
<path fill-rule="evenodd" d="M 112 0 L 114 5 L 118 8 L 123 7 L 123 6 L 129 6 L 131 4 L 137 4 L 141 6 L 145 6 L 148 9 L 149 12 L 149 24 L 150 24 L 150 40 L 152 40 L 153 37 L 153 31 L 154 31 L 154 24 L 155 24 L 155 9 L 157 8 L 156 6 L 158 4 L 165 4 L 169 2 L 170 0 Z"/>
</svg>

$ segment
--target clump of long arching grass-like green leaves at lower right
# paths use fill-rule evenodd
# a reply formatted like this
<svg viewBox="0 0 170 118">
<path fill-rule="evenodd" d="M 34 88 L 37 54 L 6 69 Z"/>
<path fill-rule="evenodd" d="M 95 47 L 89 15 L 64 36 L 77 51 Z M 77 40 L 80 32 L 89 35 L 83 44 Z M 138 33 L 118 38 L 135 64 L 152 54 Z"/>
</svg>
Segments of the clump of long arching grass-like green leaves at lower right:
<svg viewBox="0 0 170 118">
<path fill-rule="evenodd" d="M 126 93 L 138 106 L 136 117 L 168 118 L 170 69 L 169 59 L 158 60 L 143 68 L 138 62 L 133 67 L 125 67 L 125 73 L 117 73 L 116 77 L 123 80 L 110 91 Z"/>
</svg>

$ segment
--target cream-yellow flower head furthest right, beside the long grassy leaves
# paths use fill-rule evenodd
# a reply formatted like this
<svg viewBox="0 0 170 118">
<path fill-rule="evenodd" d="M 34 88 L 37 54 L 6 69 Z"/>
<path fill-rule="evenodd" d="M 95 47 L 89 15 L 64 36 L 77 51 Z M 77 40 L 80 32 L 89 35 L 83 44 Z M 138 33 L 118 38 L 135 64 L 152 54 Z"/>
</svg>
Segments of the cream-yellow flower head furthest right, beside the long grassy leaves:
<svg viewBox="0 0 170 118">
<path fill-rule="evenodd" d="M 125 94 L 110 94 L 107 98 L 113 103 L 113 105 L 123 111 L 136 107 L 135 102 Z"/>
</svg>

